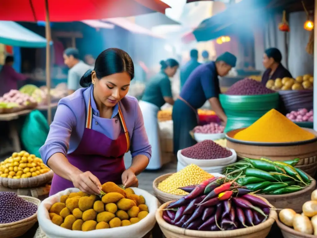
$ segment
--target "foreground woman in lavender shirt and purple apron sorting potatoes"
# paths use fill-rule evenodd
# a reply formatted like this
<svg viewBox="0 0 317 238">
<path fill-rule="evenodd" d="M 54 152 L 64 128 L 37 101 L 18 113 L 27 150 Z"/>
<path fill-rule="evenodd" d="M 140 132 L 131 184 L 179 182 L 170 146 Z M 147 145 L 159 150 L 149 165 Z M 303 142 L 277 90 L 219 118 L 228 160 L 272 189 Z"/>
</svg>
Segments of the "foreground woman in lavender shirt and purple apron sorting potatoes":
<svg viewBox="0 0 317 238">
<path fill-rule="evenodd" d="M 72 95 L 59 101 L 40 153 L 53 171 L 50 195 L 67 188 L 99 194 L 112 181 L 137 187 L 136 175 L 151 158 L 151 145 L 138 101 L 126 96 L 134 68 L 123 50 L 111 48 L 97 57 Z M 123 156 L 131 151 L 126 169 Z"/>
</svg>

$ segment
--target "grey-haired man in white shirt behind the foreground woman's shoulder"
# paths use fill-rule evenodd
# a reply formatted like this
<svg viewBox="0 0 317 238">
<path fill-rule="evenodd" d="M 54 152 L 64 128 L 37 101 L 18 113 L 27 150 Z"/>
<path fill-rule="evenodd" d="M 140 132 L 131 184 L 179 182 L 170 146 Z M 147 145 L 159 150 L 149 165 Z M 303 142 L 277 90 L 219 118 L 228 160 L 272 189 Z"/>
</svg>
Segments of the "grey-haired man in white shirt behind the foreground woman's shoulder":
<svg viewBox="0 0 317 238">
<path fill-rule="evenodd" d="M 67 48 L 63 53 L 64 63 L 68 66 L 68 94 L 72 94 L 77 89 L 81 88 L 79 81 L 81 77 L 89 69 L 94 69 L 94 66 L 88 65 L 79 59 L 79 51 L 76 48 Z"/>
</svg>

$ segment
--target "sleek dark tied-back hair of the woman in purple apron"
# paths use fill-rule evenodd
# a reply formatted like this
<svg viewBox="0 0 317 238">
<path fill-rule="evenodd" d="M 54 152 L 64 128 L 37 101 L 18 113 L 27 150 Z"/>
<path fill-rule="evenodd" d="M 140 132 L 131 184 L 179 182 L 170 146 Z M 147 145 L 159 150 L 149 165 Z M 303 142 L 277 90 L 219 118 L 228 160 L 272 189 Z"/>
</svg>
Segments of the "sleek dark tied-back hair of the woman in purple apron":
<svg viewBox="0 0 317 238">
<path fill-rule="evenodd" d="M 124 50 L 109 48 L 100 53 L 95 62 L 94 71 L 98 79 L 103 77 L 127 72 L 131 80 L 134 78 L 134 66 L 131 57 Z M 92 70 L 89 69 L 80 79 L 80 85 L 87 88 L 91 85 Z"/>
</svg>

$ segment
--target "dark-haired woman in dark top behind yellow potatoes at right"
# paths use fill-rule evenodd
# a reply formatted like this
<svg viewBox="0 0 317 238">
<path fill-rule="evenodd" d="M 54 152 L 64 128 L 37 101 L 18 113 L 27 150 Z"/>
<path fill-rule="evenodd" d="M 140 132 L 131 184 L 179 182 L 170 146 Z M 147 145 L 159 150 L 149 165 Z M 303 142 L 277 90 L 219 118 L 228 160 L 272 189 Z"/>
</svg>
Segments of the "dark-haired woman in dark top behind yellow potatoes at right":
<svg viewBox="0 0 317 238">
<path fill-rule="evenodd" d="M 263 55 L 263 66 L 265 67 L 265 71 L 262 75 L 261 83 L 266 85 L 268 80 L 276 79 L 276 78 L 284 78 L 289 77 L 293 78 L 291 73 L 284 68 L 281 63 L 282 54 L 281 51 L 276 48 L 269 48 L 265 50 Z"/>
</svg>

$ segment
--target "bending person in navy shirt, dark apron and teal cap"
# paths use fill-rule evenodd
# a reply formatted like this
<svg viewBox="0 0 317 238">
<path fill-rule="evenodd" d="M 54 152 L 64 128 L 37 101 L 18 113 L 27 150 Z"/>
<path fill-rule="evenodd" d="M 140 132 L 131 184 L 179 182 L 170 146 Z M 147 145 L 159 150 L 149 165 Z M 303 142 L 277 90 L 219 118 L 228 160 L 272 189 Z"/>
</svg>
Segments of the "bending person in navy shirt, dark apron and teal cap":
<svg viewBox="0 0 317 238">
<path fill-rule="evenodd" d="M 191 73 L 173 107 L 174 154 L 177 154 L 179 149 L 196 143 L 189 132 L 198 125 L 197 109 L 201 108 L 206 100 L 210 102 L 217 116 L 224 123 L 227 122 L 227 116 L 218 99 L 220 94 L 218 76 L 227 75 L 235 66 L 236 56 L 225 52 L 216 61 L 204 63 Z"/>
</svg>

